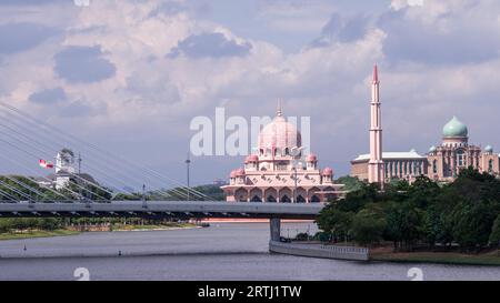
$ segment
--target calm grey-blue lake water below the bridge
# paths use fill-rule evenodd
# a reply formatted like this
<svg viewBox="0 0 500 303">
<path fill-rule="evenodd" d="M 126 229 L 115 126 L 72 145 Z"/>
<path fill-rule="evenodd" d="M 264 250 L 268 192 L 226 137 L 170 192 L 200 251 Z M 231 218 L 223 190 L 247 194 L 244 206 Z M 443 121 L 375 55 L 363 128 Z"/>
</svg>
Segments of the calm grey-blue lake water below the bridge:
<svg viewBox="0 0 500 303">
<path fill-rule="evenodd" d="M 293 235 L 313 224 L 283 224 Z M 207 229 L 83 233 L 0 241 L 0 280 L 500 280 L 500 267 L 360 263 L 271 254 L 269 225 L 212 223 Z M 24 251 L 26 245 L 26 251 Z M 119 252 L 121 251 L 121 256 Z"/>
</svg>

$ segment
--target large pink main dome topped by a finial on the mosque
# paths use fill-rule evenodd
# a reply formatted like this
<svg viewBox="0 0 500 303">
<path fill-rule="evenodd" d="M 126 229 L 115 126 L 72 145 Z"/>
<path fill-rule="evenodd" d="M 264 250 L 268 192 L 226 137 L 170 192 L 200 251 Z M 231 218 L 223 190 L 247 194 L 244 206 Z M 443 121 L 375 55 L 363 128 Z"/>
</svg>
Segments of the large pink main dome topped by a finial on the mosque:
<svg viewBox="0 0 500 303">
<path fill-rule="evenodd" d="M 302 145 L 302 137 L 297 130 L 296 125 L 282 117 L 281 110 L 278 110 L 277 117 L 271 123 L 267 124 L 259 133 L 258 148 L 264 151 L 278 149 L 289 151 L 292 148 L 299 148 Z"/>
</svg>

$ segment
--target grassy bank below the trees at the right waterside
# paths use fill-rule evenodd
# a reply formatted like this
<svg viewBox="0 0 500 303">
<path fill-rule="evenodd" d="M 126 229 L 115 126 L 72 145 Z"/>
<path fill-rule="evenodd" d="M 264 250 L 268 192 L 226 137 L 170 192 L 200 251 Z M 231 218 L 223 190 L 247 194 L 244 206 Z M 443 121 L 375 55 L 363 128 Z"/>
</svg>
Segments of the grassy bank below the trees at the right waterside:
<svg viewBox="0 0 500 303">
<path fill-rule="evenodd" d="M 500 266 L 500 253 L 494 250 L 486 253 L 466 254 L 459 252 L 388 252 L 387 250 L 372 250 L 370 260 L 386 262 L 414 262 L 467 265 L 497 265 Z"/>
</svg>

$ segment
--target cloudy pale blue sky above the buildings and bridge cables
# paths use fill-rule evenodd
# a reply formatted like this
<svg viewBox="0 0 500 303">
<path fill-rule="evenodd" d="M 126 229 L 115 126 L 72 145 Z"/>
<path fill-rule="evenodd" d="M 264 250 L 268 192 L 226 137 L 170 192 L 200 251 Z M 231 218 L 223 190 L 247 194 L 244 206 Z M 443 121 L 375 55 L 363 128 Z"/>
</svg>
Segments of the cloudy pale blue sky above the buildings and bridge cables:
<svg viewBox="0 0 500 303">
<path fill-rule="evenodd" d="M 452 115 L 500 150 L 500 1 L 84 2 L 0 1 L 0 101 L 179 181 L 193 117 L 272 115 L 278 99 L 347 174 L 368 151 L 374 62 L 384 150 L 424 153 Z M 200 184 L 242 156 L 192 161 Z"/>
</svg>

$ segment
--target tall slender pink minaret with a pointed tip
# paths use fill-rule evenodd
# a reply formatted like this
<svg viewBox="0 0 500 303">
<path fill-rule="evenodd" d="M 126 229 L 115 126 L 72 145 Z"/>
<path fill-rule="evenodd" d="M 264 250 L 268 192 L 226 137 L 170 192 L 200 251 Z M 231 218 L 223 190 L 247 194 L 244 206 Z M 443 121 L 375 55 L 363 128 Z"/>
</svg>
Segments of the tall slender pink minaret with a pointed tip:
<svg viewBox="0 0 500 303">
<path fill-rule="evenodd" d="M 373 81 L 371 82 L 371 123 L 370 123 L 370 161 L 368 162 L 368 182 L 379 183 L 383 190 L 383 160 L 382 160 L 382 114 L 379 100 L 379 73 L 377 64 L 373 67 Z"/>
</svg>

